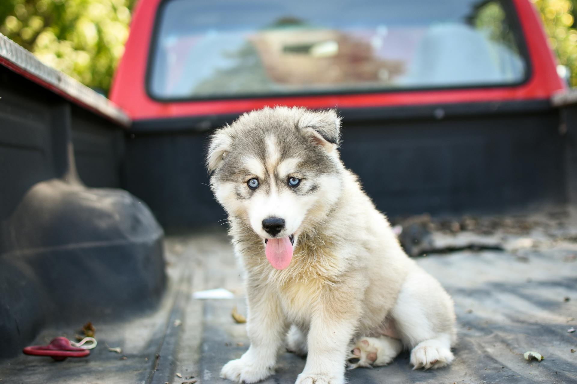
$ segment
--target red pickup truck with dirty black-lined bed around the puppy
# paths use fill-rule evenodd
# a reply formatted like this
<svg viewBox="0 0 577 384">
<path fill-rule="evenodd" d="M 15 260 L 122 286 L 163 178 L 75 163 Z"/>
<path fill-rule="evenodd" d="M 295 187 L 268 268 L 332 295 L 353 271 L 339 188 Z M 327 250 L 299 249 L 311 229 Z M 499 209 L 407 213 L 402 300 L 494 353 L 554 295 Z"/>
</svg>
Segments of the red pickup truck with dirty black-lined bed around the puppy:
<svg viewBox="0 0 577 384">
<path fill-rule="evenodd" d="M 229 302 L 190 299 L 238 275 L 212 232 L 224 212 L 203 185 L 204 146 L 252 109 L 338 109 L 343 161 L 389 217 L 577 204 L 577 92 L 557 74 L 529 0 L 140 0 L 110 100 L 1 35 L 0 97 L 2 384 L 219 382 L 246 345 L 242 325 L 222 325 Z M 185 236 L 164 241 L 164 231 Z M 533 292 L 549 290 L 536 298 L 515 285 L 529 282 L 526 269 L 497 279 L 510 265 L 503 257 L 490 259 L 494 276 L 482 272 L 485 259 L 429 259 L 434 271 L 485 284 L 448 287 L 464 324 L 460 363 L 411 374 L 401 359 L 357 370 L 351 383 L 380 382 L 387 369 L 398 382 L 575 380 L 568 359 L 544 360 L 529 379 L 500 355 L 543 333 L 565 348 L 565 330 L 552 336 L 556 318 L 506 328 L 464 307 L 515 294 L 539 318 L 560 306 L 551 297 L 577 290 L 564 275 L 573 264 L 536 264 Z M 87 320 L 125 354 L 100 343 L 84 364 L 18 356 L 33 341 L 72 339 L 72 324 Z M 294 381 L 302 361 L 282 361 L 276 380 Z"/>
</svg>

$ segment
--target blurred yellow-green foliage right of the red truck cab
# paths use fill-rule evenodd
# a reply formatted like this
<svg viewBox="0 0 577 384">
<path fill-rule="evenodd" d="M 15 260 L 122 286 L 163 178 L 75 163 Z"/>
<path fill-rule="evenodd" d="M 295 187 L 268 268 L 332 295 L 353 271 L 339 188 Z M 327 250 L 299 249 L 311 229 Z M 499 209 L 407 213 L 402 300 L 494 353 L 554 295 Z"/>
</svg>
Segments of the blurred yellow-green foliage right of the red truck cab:
<svg viewBox="0 0 577 384">
<path fill-rule="evenodd" d="M 532 0 L 541 12 L 549 45 L 559 63 L 571 70 L 571 85 L 577 86 L 577 0 Z"/>
</svg>

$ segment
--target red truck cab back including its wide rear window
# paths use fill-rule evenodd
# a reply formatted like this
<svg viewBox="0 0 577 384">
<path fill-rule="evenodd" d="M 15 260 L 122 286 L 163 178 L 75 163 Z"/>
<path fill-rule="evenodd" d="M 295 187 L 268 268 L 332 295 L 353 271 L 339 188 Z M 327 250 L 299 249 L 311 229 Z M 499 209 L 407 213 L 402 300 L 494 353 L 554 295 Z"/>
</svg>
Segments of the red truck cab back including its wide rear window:
<svg viewBox="0 0 577 384">
<path fill-rule="evenodd" d="M 529 0 L 141 0 L 110 98 L 138 121 L 544 100 L 562 89 Z"/>
</svg>

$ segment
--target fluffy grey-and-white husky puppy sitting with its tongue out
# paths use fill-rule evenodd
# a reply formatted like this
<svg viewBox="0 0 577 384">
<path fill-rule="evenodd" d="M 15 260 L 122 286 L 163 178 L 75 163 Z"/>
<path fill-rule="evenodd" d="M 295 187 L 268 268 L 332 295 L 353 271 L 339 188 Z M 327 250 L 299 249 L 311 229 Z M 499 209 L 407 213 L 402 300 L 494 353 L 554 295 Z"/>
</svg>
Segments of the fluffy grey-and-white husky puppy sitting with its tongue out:
<svg viewBox="0 0 577 384">
<path fill-rule="evenodd" d="M 245 113 L 211 138 L 211 189 L 245 271 L 250 339 L 223 378 L 269 377 L 285 346 L 307 355 L 297 384 L 344 383 L 346 366 L 384 366 L 403 348 L 414 368 L 454 358 L 451 297 L 403 252 L 340 160 L 339 138 L 335 111 L 286 107 Z"/>
</svg>

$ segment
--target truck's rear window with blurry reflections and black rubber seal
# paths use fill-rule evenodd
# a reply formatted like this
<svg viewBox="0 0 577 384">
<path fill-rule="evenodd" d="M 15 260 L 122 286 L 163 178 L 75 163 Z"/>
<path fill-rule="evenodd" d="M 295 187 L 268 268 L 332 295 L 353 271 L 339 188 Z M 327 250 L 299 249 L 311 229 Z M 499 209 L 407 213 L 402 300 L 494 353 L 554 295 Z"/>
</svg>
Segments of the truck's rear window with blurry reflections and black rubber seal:
<svg viewBox="0 0 577 384">
<path fill-rule="evenodd" d="M 168 0 L 158 100 L 503 86 L 527 63 L 507 1 Z"/>
</svg>

